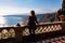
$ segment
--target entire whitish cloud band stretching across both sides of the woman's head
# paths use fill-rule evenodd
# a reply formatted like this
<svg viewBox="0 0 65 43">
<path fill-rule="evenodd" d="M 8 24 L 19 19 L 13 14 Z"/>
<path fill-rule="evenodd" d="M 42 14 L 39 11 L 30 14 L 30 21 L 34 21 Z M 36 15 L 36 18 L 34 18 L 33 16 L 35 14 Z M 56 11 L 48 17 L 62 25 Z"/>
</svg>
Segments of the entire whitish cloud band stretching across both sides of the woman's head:
<svg viewBox="0 0 65 43">
<path fill-rule="evenodd" d="M 35 10 L 36 13 L 51 13 L 57 11 L 57 9 L 27 9 L 27 8 L 14 8 L 14 6 L 0 6 L 0 15 L 12 15 L 12 14 L 23 14 L 29 13 Z"/>
</svg>

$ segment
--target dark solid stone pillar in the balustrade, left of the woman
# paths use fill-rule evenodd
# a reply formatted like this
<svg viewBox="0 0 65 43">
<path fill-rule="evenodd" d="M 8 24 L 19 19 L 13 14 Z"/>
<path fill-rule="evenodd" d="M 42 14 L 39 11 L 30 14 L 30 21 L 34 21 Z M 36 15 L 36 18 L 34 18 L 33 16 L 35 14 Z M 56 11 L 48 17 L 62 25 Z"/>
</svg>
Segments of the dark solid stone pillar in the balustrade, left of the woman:
<svg viewBox="0 0 65 43">
<path fill-rule="evenodd" d="M 22 28 L 15 28 L 15 43 L 23 43 Z"/>
</svg>

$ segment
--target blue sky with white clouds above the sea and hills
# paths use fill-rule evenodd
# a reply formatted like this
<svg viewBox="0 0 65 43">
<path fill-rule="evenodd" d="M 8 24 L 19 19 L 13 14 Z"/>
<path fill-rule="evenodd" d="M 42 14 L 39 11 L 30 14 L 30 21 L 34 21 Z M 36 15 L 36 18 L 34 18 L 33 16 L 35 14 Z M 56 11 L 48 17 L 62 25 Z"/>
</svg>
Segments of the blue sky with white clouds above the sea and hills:
<svg viewBox="0 0 65 43">
<path fill-rule="evenodd" d="M 29 13 L 31 10 L 51 13 L 61 8 L 62 0 L 0 0 L 0 15 Z"/>
</svg>

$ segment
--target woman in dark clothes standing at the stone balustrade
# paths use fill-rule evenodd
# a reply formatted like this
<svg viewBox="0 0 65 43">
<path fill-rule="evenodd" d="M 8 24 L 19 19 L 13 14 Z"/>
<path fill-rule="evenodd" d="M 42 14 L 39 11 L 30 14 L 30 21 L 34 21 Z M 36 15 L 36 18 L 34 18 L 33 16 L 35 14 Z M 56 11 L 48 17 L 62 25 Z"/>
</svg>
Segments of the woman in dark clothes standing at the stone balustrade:
<svg viewBox="0 0 65 43">
<path fill-rule="evenodd" d="M 36 23 L 38 24 L 35 11 L 30 11 L 30 16 L 28 18 L 28 28 L 30 35 L 35 34 L 35 30 L 37 29 Z"/>
</svg>

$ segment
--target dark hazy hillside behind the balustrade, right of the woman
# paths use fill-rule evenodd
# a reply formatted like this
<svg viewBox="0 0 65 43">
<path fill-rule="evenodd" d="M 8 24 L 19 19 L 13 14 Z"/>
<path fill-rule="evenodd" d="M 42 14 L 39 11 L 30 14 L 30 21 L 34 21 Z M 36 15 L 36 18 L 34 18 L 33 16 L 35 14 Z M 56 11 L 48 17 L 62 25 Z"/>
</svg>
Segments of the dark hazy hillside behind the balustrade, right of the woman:
<svg viewBox="0 0 65 43">
<path fill-rule="evenodd" d="M 51 23 L 55 20 L 55 13 L 38 14 L 37 18 L 39 23 Z"/>
</svg>

